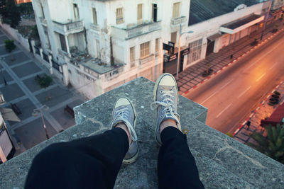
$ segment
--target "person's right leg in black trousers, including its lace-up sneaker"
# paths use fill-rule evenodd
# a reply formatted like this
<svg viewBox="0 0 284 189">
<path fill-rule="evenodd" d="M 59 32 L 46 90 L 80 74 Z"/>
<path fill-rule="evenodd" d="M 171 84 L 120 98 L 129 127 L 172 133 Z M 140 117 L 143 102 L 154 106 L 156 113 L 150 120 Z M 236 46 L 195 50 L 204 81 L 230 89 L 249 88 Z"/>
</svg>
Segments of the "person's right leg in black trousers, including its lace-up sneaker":
<svg viewBox="0 0 284 189">
<path fill-rule="evenodd" d="M 178 85 L 171 74 L 159 76 L 154 87 L 157 108 L 155 140 L 161 146 L 158 156 L 159 188 L 204 188 L 195 159 L 181 132 L 178 115 Z"/>
</svg>

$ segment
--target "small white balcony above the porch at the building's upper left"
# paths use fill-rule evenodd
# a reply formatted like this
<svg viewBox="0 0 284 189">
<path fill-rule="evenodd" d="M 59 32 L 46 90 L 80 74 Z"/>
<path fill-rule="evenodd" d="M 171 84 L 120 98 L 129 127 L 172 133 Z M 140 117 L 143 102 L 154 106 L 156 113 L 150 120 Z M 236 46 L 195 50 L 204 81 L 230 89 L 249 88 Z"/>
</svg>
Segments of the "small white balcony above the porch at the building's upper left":
<svg viewBox="0 0 284 189">
<path fill-rule="evenodd" d="M 80 33 L 84 30 L 83 21 L 75 21 L 70 23 L 58 23 L 53 21 L 54 29 L 56 32 L 61 33 L 62 35 L 68 35 L 70 33 Z"/>
</svg>

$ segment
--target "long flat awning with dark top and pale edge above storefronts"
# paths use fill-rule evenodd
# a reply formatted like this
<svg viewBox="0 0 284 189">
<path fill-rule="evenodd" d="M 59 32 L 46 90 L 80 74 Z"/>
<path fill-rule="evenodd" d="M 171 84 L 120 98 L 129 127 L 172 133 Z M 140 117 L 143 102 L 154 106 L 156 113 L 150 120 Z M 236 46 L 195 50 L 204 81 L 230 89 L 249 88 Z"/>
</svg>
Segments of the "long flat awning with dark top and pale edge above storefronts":
<svg viewBox="0 0 284 189">
<path fill-rule="evenodd" d="M 251 25 L 255 25 L 256 23 L 263 21 L 263 19 L 264 16 L 252 14 L 251 16 L 222 25 L 220 27 L 220 31 L 229 34 L 238 33 L 241 30 L 249 28 Z"/>
</svg>

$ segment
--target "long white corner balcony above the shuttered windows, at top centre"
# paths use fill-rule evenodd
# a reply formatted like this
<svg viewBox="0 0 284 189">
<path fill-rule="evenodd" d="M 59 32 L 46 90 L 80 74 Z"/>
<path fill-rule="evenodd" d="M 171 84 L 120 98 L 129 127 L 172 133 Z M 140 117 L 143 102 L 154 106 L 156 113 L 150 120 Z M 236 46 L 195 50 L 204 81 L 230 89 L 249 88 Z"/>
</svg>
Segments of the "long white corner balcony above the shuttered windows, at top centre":
<svg viewBox="0 0 284 189">
<path fill-rule="evenodd" d="M 160 21 L 155 23 L 142 23 L 141 25 L 135 25 L 129 28 L 116 28 L 112 26 L 111 35 L 123 40 L 129 40 L 160 29 Z"/>
</svg>

